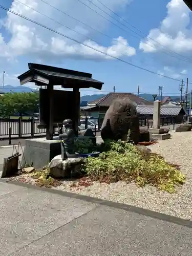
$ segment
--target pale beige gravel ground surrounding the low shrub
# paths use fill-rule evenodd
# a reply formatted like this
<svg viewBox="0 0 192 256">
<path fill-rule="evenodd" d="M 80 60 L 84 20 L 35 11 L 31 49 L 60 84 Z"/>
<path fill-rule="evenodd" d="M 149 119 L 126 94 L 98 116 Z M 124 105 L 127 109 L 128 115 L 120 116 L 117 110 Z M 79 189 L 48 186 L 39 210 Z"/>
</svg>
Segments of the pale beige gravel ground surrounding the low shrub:
<svg viewBox="0 0 192 256">
<path fill-rule="evenodd" d="M 124 182 L 111 184 L 94 182 L 88 187 L 71 187 L 72 181 L 62 181 L 62 184 L 55 189 L 130 204 L 192 220 L 192 132 L 170 133 L 171 139 L 160 141 L 149 147 L 153 152 L 164 156 L 168 162 L 181 165 L 181 171 L 186 175 L 186 183 L 178 188 L 176 194 L 158 191 L 152 186 L 139 188 L 134 183 Z M 27 176 L 25 175 L 24 178 Z"/>
</svg>

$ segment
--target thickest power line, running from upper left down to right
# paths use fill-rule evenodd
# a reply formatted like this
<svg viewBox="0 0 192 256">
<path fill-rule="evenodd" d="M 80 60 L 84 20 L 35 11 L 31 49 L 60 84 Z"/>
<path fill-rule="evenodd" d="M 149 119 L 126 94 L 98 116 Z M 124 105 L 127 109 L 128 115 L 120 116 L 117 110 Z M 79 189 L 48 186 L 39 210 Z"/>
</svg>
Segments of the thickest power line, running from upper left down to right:
<svg viewBox="0 0 192 256">
<path fill-rule="evenodd" d="M 38 26 L 40 26 L 40 27 L 42 27 L 42 28 L 45 28 L 45 29 L 47 29 L 47 30 L 50 30 L 50 31 L 52 31 L 52 32 L 54 32 L 54 33 L 56 33 L 56 34 L 58 34 L 58 35 L 61 35 L 61 36 L 65 37 L 65 38 L 68 38 L 68 39 L 70 39 L 70 40 L 72 40 L 72 41 L 74 41 L 74 42 L 77 42 L 77 43 L 80 44 L 80 45 L 83 45 L 83 46 L 85 46 L 85 47 L 88 47 L 88 48 L 90 48 L 90 49 L 92 49 L 92 50 L 94 50 L 94 51 L 96 51 L 96 52 L 99 52 L 99 53 L 101 53 L 101 54 L 103 54 L 103 55 L 106 55 L 106 56 L 108 56 L 108 57 L 117 59 L 117 60 L 119 60 L 119 61 L 121 61 L 121 62 L 123 62 L 123 63 L 126 63 L 127 65 L 130 65 L 130 66 L 132 66 L 132 67 L 138 68 L 138 69 L 140 69 L 140 70 L 146 71 L 146 72 L 151 73 L 151 74 L 155 74 L 155 75 L 158 75 L 158 76 L 161 76 L 161 77 L 165 77 L 165 78 L 168 78 L 168 79 L 171 79 L 171 80 L 174 80 L 174 81 L 179 81 L 179 82 L 181 82 L 181 80 L 179 80 L 179 79 L 172 78 L 172 77 L 169 77 L 169 76 L 165 76 L 165 75 L 156 73 L 156 72 L 154 72 L 154 71 L 152 71 L 152 70 L 148 70 L 148 69 L 139 67 L 139 66 L 137 66 L 137 65 L 134 65 L 134 64 L 132 64 L 132 63 L 130 63 L 130 62 L 128 62 L 128 61 L 125 61 L 125 60 L 123 60 L 123 59 L 120 59 L 120 58 L 118 58 L 118 57 L 111 56 L 111 55 L 108 54 L 108 53 L 99 51 L 98 49 L 95 49 L 94 47 L 88 46 L 88 45 L 84 44 L 83 42 L 80 42 L 80 41 L 78 41 L 78 40 L 76 40 L 76 39 L 74 39 L 74 38 L 72 38 L 72 37 L 70 37 L 70 36 L 67 36 L 67 35 L 65 35 L 65 34 L 62 34 L 62 33 L 58 32 L 58 31 L 56 31 L 56 30 L 54 30 L 54 29 L 52 29 L 52 28 L 49 28 L 49 27 L 43 25 L 43 24 L 40 24 L 40 23 L 38 23 L 38 22 L 35 22 L 35 20 L 32 20 L 32 19 L 30 19 L 30 18 L 27 18 L 26 16 L 23 16 L 22 14 L 19 14 L 19 13 L 16 13 L 16 12 L 14 12 L 14 11 L 11 11 L 11 10 L 9 10 L 8 8 L 6 8 L 6 7 L 2 6 L 2 5 L 0 5 L 0 8 L 3 9 L 3 10 L 8 11 L 8 12 L 10 12 L 10 13 L 13 13 L 13 14 L 16 15 L 16 16 L 19 16 L 19 17 L 21 17 L 21 18 L 24 18 L 24 19 L 28 20 L 29 22 L 34 23 L 34 24 L 36 24 L 36 25 L 38 25 Z M 191 84 L 192 84 L 192 83 L 191 83 Z"/>
</svg>

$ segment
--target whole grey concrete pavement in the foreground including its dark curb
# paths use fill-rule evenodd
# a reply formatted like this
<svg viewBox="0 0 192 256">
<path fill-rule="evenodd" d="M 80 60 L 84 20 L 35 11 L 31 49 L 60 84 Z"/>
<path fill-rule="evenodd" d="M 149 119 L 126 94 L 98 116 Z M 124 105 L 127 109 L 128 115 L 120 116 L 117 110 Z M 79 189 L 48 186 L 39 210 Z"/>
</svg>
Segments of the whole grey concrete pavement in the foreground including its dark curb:
<svg viewBox="0 0 192 256">
<path fill-rule="evenodd" d="M 0 182 L 0 255 L 191 255 L 192 223 L 141 208 Z"/>
</svg>

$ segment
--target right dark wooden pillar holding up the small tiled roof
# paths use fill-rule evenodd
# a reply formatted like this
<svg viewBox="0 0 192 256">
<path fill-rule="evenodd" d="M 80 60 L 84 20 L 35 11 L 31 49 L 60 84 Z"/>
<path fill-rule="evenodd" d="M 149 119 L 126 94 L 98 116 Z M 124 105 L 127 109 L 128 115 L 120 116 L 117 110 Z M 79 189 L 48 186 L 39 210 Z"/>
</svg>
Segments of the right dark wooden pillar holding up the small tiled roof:
<svg viewBox="0 0 192 256">
<path fill-rule="evenodd" d="M 79 94 L 79 88 L 74 87 L 73 88 L 73 97 L 74 97 L 74 120 L 73 120 L 73 129 L 75 131 L 75 135 L 78 136 L 78 120 L 80 117 L 80 94 Z"/>
</svg>

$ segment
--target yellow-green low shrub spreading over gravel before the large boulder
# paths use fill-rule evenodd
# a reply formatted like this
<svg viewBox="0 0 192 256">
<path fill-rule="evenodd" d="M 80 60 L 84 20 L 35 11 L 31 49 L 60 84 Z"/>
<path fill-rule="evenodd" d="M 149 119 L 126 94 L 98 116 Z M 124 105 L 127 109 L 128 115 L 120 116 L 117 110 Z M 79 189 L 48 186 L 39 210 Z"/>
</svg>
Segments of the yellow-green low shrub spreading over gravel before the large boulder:
<svg viewBox="0 0 192 256">
<path fill-rule="evenodd" d="M 154 153 L 141 153 L 131 143 L 118 141 L 100 145 L 105 149 L 98 158 L 86 159 L 84 170 L 93 180 L 101 182 L 135 181 L 139 186 L 154 185 L 174 193 L 183 184 L 180 170 Z"/>
</svg>

